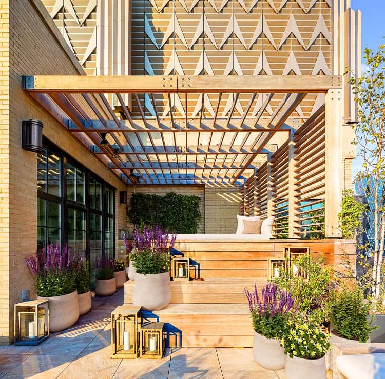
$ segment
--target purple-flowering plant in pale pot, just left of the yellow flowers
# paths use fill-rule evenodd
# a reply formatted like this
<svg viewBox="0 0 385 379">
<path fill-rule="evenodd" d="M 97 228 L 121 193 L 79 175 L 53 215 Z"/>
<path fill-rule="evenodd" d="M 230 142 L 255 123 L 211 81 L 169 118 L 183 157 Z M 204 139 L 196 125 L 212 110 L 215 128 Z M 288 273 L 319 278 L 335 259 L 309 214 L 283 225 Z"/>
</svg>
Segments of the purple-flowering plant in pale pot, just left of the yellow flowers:
<svg viewBox="0 0 385 379">
<path fill-rule="evenodd" d="M 254 291 L 244 289 L 248 307 L 252 313 L 254 342 L 253 357 L 259 365 L 269 370 L 281 370 L 285 363 L 285 354 L 280 345 L 286 327 L 286 318 L 295 313 L 292 294 L 280 291 L 274 283 L 267 283 L 262 288 L 262 298 Z"/>
</svg>

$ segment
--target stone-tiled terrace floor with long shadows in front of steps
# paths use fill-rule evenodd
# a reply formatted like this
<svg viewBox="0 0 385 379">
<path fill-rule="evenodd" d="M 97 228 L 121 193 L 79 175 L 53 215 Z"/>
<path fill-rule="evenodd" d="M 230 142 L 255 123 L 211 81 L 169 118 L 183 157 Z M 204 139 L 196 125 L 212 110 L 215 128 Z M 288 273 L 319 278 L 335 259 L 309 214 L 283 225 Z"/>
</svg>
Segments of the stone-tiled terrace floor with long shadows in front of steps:
<svg viewBox="0 0 385 379">
<path fill-rule="evenodd" d="M 172 348 L 162 360 L 110 358 L 110 312 L 123 304 L 123 289 L 94 297 L 92 309 L 71 328 L 38 346 L 0 347 L 4 378 L 285 378 L 253 361 L 249 348 Z"/>
</svg>

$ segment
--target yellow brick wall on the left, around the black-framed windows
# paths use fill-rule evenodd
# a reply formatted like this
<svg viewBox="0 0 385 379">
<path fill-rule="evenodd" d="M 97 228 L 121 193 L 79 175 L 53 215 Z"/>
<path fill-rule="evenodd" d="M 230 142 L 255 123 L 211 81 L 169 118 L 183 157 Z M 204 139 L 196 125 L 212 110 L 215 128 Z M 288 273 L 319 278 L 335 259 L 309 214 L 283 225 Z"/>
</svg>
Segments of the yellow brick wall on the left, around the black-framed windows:
<svg viewBox="0 0 385 379">
<path fill-rule="evenodd" d="M 22 90 L 22 75 L 82 73 L 43 5 L 39 0 L 12 1 L 8 10 L 8 1 L 0 0 L 0 12 L 0 344 L 8 344 L 13 304 L 20 300 L 22 289 L 33 295 L 24 260 L 36 246 L 36 154 L 22 149 L 22 120 L 41 119 L 44 135 L 117 188 L 117 196 L 126 185 Z M 119 213 L 119 198 L 116 208 Z M 125 218 L 122 221 L 118 214 L 116 229 L 124 227 Z"/>
</svg>

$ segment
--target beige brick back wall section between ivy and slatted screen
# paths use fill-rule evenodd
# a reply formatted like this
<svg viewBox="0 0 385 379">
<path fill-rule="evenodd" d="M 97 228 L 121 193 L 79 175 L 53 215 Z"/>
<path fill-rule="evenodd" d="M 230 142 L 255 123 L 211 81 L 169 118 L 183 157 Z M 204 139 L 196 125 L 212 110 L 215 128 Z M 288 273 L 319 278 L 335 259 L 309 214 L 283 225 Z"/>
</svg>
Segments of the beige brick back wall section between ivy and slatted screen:
<svg viewBox="0 0 385 379">
<path fill-rule="evenodd" d="M 242 199 L 239 185 L 206 185 L 204 199 L 205 233 L 235 233 Z"/>
</svg>

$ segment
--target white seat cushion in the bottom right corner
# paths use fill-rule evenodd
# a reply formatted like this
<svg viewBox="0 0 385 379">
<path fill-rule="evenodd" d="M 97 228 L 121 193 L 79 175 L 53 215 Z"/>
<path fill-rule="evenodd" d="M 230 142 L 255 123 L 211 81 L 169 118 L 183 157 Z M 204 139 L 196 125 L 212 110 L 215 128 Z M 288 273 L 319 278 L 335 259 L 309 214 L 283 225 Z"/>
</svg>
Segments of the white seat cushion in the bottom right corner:
<svg viewBox="0 0 385 379">
<path fill-rule="evenodd" d="M 385 354 L 339 355 L 337 370 L 348 379 L 380 379 L 385 377 Z"/>
</svg>

